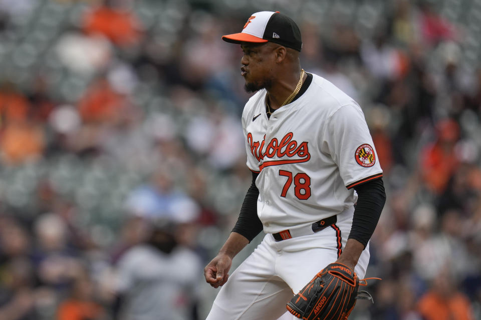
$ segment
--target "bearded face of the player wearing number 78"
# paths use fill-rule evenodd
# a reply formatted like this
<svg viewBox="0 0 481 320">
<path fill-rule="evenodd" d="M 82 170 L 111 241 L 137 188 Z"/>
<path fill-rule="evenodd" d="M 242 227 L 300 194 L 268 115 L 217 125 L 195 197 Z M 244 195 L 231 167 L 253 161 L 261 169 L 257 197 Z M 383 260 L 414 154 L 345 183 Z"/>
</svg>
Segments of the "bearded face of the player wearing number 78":
<svg viewBox="0 0 481 320">
<path fill-rule="evenodd" d="M 244 55 L 240 60 L 242 63 L 241 75 L 246 80 L 245 89 L 248 92 L 255 92 L 262 88 L 269 88 L 272 84 L 273 69 L 275 67 L 275 49 L 279 45 L 266 43 L 243 43 L 240 45 Z"/>
</svg>

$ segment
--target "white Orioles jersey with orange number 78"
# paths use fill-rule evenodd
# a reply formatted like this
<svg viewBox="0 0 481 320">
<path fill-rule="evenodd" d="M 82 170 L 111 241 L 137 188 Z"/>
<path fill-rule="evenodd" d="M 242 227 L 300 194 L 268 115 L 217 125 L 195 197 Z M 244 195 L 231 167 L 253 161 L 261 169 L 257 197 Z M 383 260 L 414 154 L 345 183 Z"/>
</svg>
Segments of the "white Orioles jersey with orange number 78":
<svg viewBox="0 0 481 320">
<path fill-rule="evenodd" d="M 352 207 L 352 187 L 382 176 L 361 107 L 313 74 L 295 101 L 266 115 L 266 89 L 242 115 L 247 165 L 260 172 L 257 210 L 264 231 L 309 225 Z"/>
</svg>

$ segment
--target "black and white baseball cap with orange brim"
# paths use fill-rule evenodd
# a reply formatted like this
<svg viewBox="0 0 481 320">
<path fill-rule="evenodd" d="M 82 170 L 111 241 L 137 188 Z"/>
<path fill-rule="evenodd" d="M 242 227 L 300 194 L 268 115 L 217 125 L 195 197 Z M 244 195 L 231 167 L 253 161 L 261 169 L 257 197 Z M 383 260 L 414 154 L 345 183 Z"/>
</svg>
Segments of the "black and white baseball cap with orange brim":
<svg viewBox="0 0 481 320">
<path fill-rule="evenodd" d="M 302 48 L 301 31 L 296 22 L 279 11 L 256 12 L 248 18 L 242 32 L 223 35 L 222 39 L 231 43 L 271 41 L 298 51 Z"/>
</svg>

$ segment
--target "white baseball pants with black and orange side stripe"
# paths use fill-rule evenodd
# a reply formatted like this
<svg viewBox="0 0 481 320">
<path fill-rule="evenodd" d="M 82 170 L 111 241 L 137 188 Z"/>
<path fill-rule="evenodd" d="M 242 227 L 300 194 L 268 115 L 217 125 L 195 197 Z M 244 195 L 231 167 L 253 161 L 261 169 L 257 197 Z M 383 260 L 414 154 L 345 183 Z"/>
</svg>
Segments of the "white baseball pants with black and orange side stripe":
<svg viewBox="0 0 481 320">
<path fill-rule="evenodd" d="M 279 242 L 266 234 L 221 287 L 206 320 L 298 319 L 286 311 L 286 303 L 293 292 L 299 292 L 317 272 L 337 260 L 351 230 L 349 211 L 338 214 L 333 226 L 317 233 Z M 368 263 L 369 244 L 355 267 L 360 279 Z"/>
</svg>

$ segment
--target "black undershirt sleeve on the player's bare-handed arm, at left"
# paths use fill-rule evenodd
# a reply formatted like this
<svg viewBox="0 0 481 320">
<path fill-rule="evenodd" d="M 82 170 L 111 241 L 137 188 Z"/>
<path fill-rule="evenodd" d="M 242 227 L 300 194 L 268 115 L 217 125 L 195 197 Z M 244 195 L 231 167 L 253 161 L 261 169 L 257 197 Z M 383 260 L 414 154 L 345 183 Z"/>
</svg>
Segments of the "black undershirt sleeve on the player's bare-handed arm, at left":
<svg viewBox="0 0 481 320">
<path fill-rule="evenodd" d="M 247 190 L 246 197 L 240 208 L 239 217 L 232 231 L 240 233 L 252 241 L 263 230 L 263 225 L 257 215 L 257 198 L 259 189 L 256 186 L 258 172 L 252 172 L 252 184 Z"/>
</svg>

